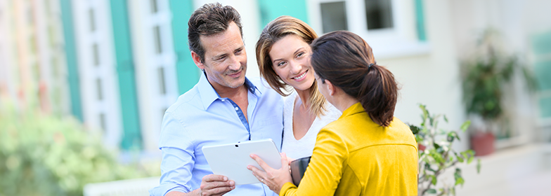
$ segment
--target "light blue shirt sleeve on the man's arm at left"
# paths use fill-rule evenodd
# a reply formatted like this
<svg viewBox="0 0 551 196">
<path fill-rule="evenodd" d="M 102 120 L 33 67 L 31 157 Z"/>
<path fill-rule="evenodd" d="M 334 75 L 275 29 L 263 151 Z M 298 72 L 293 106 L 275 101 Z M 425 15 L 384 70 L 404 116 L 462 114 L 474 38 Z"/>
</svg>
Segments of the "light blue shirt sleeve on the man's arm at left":
<svg viewBox="0 0 551 196">
<path fill-rule="evenodd" d="M 162 151 L 160 185 L 151 189 L 150 195 L 192 191 L 189 181 L 195 165 L 193 136 L 171 113 L 166 113 L 162 120 L 159 148 Z"/>
</svg>

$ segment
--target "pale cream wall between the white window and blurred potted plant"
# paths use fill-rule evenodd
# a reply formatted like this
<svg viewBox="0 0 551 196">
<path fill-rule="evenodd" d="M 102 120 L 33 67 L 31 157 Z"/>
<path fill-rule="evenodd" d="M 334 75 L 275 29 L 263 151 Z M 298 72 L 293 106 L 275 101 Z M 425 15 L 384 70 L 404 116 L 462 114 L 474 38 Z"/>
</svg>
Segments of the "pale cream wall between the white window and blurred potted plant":
<svg viewBox="0 0 551 196">
<path fill-rule="evenodd" d="M 395 116 L 404 123 L 420 124 L 418 104 L 427 105 L 431 113 L 446 114 L 449 123 L 441 128 L 458 130 L 465 121 L 460 99 L 459 66 L 453 48 L 451 6 L 449 1 L 424 1 L 429 52 L 377 59 L 377 63 L 387 66 L 401 83 Z M 466 134 L 460 133 L 460 137 L 465 138 Z M 468 140 L 462 139 L 457 145 L 462 151 L 468 147 Z"/>
</svg>

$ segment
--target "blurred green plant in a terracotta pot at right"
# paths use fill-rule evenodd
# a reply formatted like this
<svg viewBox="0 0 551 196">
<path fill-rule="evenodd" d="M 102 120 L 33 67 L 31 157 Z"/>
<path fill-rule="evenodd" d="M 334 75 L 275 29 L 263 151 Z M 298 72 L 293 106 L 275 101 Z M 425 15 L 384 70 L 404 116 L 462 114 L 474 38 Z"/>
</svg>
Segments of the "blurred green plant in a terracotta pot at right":
<svg viewBox="0 0 551 196">
<path fill-rule="evenodd" d="M 535 89 L 535 80 L 531 73 L 522 66 L 516 55 L 508 55 L 499 39 L 498 31 L 486 29 L 482 34 L 474 54 L 462 62 L 462 91 L 467 115 L 479 116 L 484 127 L 477 127 L 472 135 L 471 145 L 477 155 L 488 155 L 494 151 L 495 134 L 501 130 L 499 137 L 510 137 L 510 132 L 503 129 L 507 116 L 503 112 L 503 96 L 507 85 L 515 74 L 521 72 L 527 88 Z"/>
</svg>

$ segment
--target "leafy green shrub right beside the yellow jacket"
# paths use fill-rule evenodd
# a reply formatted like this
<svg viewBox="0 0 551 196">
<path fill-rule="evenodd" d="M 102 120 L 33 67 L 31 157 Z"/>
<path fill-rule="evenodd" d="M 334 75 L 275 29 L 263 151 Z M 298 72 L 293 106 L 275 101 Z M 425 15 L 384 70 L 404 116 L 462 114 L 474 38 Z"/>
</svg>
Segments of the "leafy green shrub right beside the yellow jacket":
<svg viewBox="0 0 551 196">
<path fill-rule="evenodd" d="M 410 129 L 415 134 L 417 144 L 425 146 L 424 151 L 419 151 L 419 176 L 418 190 L 419 195 L 436 194 L 436 195 L 455 195 L 455 186 L 463 185 L 465 179 L 461 175 L 461 169 L 457 167 L 458 162 L 466 162 L 470 164 L 474 160 L 474 151 L 467 150 L 456 152 L 451 148 L 453 141 L 460 140 L 458 132 L 446 131 L 438 128 L 438 123 L 443 118 L 448 123 L 448 118 L 442 114 L 430 115 L 426 106 L 420 104 L 422 110 L 422 123 L 420 127 L 410 125 Z M 470 125 L 470 121 L 466 121 L 460 127 L 462 132 L 465 132 Z M 443 138 L 439 140 L 439 138 Z M 446 169 L 454 169 L 455 183 L 436 188 L 438 179 Z M 477 163 L 477 171 L 480 172 L 480 160 Z"/>
</svg>

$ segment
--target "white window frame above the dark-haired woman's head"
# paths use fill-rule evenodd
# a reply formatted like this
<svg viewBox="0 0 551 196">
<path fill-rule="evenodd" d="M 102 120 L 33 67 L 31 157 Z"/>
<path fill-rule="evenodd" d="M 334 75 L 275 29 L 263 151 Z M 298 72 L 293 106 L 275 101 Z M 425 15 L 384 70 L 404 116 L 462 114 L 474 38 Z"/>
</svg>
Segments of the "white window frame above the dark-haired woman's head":
<svg viewBox="0 0 551 196">
<path fill-rule="evenodd" d="M 417 36 L 415 1 L 389 0 L 392 6 L 392 28 L 368 30 L 364 0 L 308 0 L 311 27 L 323 34 L 321 3 L 344 1 L 348 31 L 358 34 L 369 43 L 376 59 L 425 55 L 430 52 L 428 41 Z M 362 17 L 358 17 L 361 15 Z"/>
</svg>

